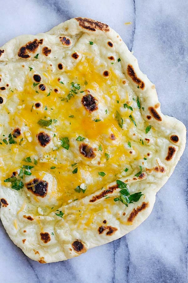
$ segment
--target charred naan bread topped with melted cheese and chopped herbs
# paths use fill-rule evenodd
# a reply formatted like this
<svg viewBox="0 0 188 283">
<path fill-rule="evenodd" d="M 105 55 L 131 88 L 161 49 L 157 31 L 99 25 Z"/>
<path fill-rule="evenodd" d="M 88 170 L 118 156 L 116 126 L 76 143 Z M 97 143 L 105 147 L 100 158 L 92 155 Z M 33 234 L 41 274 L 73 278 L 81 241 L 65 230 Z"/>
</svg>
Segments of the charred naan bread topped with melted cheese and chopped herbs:
<svg viewBox="0 0 188 283">
<path fill-rule="evenodd" d="M 185 148 L 137 59 L 92 19 L 1 47 L 0 96 L 0 217 L 40 263 L 135 229 Z"/>
</svg>

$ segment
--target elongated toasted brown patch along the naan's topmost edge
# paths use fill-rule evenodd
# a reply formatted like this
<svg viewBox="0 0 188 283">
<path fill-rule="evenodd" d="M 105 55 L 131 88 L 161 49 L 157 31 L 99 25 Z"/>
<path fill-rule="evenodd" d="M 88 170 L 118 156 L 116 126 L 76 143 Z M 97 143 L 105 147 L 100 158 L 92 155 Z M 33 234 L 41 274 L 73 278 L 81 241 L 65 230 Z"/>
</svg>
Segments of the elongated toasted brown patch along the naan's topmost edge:
<svg viewBox="0 0 188 283">
<path fill-rule="evenodd" d="M 79 17 L 76 18 L 76 20 L 79 22 L 79 26 L 89 31 L 96 31 L 96 30 L 101 30 L 105 32 L 110 31 L 110 28 L 107 24 L 103 24 L 93 19 Z"/>
</svg>

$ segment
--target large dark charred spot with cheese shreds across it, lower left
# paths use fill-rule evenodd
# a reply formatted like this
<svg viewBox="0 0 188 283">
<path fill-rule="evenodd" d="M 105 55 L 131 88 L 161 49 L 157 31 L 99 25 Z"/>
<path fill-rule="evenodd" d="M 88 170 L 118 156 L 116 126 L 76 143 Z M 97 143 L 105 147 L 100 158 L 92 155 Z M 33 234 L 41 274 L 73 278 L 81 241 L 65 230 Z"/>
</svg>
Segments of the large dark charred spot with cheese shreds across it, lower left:
<svg viewBox="0 0 188 283">
<path fill-rule="evenodd" d="M 47 192 L 48 192 L 48 182 L 47 181 L 43 181 L 43 180 L 39 181 L 39 179 L 35 178 L 32 181 L 26 183 L 25 186 L 35 196 L 45 197 L 47 195 Z"/>
</svg>

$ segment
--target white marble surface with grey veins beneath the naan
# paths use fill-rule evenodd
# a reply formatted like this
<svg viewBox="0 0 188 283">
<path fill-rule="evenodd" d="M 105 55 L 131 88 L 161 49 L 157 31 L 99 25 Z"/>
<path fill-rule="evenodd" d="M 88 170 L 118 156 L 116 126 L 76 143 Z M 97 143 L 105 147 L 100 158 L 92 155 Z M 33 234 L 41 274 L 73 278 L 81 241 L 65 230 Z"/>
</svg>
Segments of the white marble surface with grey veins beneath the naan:
<svg viewBox="0 0 188 283">
<path fill-rule="evenodd" d="M 164 114 L 188 126 L 187 0 L 0 0 L 0 46 L 86 16 L 109 24 L 156 85 Z M 131 25 L 124 25 L 131 21 Z M 78 258 L 39 264 L 16 247 L 0 224 L 0 282 L 185 283 L 188 256 L 186 148 L 156 197 L 153 212 L 127 236 Z"/>
</svg>

